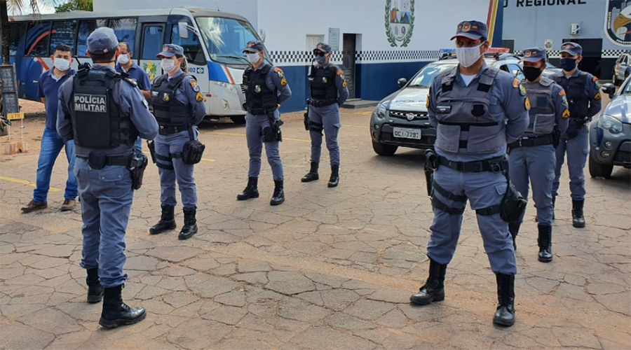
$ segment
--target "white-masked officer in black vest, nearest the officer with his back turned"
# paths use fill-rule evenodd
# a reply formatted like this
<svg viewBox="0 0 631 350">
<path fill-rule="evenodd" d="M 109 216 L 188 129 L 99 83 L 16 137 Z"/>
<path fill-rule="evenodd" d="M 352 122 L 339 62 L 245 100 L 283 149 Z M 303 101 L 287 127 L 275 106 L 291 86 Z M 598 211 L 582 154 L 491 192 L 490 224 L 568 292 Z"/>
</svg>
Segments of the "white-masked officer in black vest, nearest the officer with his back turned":
<svg viewBox="0 0 631 350">
<path fill-rule="evenodd" d="M 197 232 L 197 188 L 193 177 L 194 165 L 185 164 L 182 158 L 184 144 L 196 140 L 198 130 L 206 115 L 204 97 L 197 80 L 187 76 L 180 67 L 184 60 L 182 46 L 164 45 L 158 53 L 162 59 L 163 76 L 151 87 L 151 104 L 160 125 L 154 140 L 154 158 L 160 175 L 160 221 L 149 229 L 151 235 L 175 229 L 175 181 L 182 195 L 184 226 L 178 239 L 189 239 Z"/>
</svg>

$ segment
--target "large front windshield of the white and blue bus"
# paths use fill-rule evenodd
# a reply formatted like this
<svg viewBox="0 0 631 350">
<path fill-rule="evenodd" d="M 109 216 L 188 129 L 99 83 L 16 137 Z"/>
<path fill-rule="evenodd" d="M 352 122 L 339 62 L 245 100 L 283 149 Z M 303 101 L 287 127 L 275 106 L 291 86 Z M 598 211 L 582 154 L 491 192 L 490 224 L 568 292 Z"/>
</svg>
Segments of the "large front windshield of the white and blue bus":
<svg viewBox="0 0 631 350">
<path fill-rule="evenodd" d="M 243 48 L 248 41 L 259 40 L 250 23 L 217 17 L 198 17 L 196 21 L 210 59 L 225 64 L 248 64 Z"/>
</svg>

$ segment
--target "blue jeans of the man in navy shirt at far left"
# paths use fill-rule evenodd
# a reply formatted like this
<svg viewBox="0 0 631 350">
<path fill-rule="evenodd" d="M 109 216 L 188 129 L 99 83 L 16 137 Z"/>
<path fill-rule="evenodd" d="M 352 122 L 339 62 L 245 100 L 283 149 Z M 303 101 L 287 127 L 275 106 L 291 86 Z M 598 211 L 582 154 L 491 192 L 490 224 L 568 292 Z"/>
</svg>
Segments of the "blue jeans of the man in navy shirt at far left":
<svg viewBox="0 0 631 350">
<path fill-rule="evenodd" d="M 66 146 L 66 158 L 68 158 L 68 180 L 66 181 L 66 193 L 64 198 L 67 200 L 76 200 L 79 195 L 76 188 L 76 177 L 74 176 L 74 141 L 70 140 L 64 143 L 64 140 L 57 134 L 57 130 L 45 128 L 41 136 L 41 151 L 39 151 L 39 160 L 37 161 L 37 180 L 36 187 L 33 191 L 33 200 L 35 202 L 44 203 L 48 197 L 48 189 L 50 188 L 50 175 L 53 173 L 55 160 Z"/>
</svg>

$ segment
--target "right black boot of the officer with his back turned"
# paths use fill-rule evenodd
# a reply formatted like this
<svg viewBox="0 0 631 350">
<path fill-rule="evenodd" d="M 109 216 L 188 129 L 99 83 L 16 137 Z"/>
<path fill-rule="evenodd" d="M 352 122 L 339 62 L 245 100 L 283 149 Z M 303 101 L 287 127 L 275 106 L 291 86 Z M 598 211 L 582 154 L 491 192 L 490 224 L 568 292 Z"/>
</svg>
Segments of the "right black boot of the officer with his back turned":
<svg viewBox="0 0 631 350">
<path fill-rule="evenodd" d="M 123 285 L 105 288 L 103 311 L 99 324 L 105 328 L 116 328 L 119 325 L 133 325 L 147 316 L 143 307 L 128 307 L 121 297 Z"/>
</svg>

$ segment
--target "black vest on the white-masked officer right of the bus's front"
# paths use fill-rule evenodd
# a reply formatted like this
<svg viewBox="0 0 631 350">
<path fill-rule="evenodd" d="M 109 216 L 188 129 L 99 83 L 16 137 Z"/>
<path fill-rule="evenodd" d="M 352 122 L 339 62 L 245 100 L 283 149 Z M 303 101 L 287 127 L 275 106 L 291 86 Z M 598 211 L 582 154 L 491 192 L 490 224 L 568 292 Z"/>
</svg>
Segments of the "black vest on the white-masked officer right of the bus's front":
<svg viewBox="0 0 631 350">
<path fill-rule="evenodd" d="M 263 68 L 252 70 L 245 69 L 243 73 L 243 87 L 245 90 L 245 106 L 253 115 L 267 114 L 278 108 L 278 92 L 276 87 L 272 90 L 267 87 L 265 79 L 272 66 L 266 64 Z"/>
</svg>

